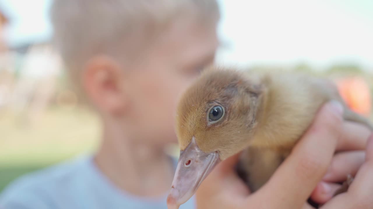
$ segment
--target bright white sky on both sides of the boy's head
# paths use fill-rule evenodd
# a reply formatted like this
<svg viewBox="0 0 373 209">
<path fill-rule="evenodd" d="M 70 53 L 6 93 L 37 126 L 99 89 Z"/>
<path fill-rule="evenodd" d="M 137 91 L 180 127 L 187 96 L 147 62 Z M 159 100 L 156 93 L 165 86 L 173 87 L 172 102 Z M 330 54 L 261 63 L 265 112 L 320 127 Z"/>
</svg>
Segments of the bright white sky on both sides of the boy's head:
<svg viewBox="0 0 373 209">
<path fill-rule="evenodd" d="M 306 61 L 323 67 L 333 61 L 373 69 L 372 0 L 218 0 L 219 32 L 232 45 L 218 59 L 232 64 Z M 51 0 L 0 0 L 14 22 L 12 44 L 50 38 Z"/>
</svg>

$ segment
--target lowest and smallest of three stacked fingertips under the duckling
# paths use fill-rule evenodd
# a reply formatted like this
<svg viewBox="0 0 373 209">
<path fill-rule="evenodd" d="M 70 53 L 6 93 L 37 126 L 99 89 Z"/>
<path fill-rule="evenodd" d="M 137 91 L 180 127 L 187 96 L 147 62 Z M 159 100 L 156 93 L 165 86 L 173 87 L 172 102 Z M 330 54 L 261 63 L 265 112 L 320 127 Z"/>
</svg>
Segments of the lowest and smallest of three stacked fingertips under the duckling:
<svg viewBox="0 0 373 209">
<path fill-rule="evenodd" d="M 326 203 L 332 199 L 335 192 L 342 187 L 341 184 L 320 182 L 311 194 L 311 199 L 319 204 Z"/>
</svg>

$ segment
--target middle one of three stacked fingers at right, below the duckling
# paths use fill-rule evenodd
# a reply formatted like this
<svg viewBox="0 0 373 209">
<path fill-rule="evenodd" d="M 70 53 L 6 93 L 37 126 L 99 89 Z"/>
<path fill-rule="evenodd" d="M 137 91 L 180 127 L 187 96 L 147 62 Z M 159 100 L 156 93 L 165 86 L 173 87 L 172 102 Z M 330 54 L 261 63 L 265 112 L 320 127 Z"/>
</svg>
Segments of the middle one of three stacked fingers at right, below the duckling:
<svg viewBox="0 0 373 209">
<path fill-rule="evenodd" d="M 348 174 L 355 176 L 364 160 L 365 151 L 338 153 L 333 157 L 323 180 L 329 182 L 345 181 Z"/>
</svg>

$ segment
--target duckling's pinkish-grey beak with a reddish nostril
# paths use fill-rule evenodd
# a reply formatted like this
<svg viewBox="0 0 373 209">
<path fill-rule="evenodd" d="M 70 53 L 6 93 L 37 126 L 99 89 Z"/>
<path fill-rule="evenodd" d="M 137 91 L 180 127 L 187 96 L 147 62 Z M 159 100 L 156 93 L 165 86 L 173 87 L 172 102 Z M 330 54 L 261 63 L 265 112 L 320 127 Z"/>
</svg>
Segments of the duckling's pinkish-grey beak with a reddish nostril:
<svg viewBox="0 0 373 209">
<path fill-rule="evenodd" d="M 193 136 L 188 147 L 180 152 L 170 194 L 167 197 L 168 208 L 178 209 L 181 204 L 188 201 L 219 162 L 219 152 L 201 151 Z"/>
</svg>

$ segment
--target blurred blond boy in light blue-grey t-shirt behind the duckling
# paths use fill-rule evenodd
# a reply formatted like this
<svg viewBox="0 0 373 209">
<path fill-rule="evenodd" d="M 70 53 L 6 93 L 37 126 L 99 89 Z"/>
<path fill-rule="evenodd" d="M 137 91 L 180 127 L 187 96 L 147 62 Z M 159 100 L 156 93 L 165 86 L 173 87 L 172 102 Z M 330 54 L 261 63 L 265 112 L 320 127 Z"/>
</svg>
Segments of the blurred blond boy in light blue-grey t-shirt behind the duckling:
<svg viewBox="0 0 373 209">
<path fill-rule="evenodd" d="M 102 119 L 101 145 L 17 180 L 0 208 L 166 208 L 175 106 L 213 62 L 218 20 L 215 0 L 56 0 L 56 43 Z"/>
</svg>

